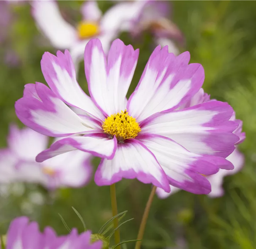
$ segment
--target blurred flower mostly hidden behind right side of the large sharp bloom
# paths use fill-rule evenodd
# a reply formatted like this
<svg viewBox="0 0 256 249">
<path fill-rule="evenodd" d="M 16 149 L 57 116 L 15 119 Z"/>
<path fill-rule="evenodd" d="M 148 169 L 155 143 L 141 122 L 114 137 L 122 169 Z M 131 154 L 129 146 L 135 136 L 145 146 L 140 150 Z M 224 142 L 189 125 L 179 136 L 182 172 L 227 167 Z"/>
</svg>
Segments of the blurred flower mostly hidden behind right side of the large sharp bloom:
<svg viewBox="0 0 256 249">
<path fill-rule="evenodd" d="M 204 90 L 201 88 L 200 91 L 197 94 L 195 94 L 195 96 L 190 101 L 188 101 L 185 105 L 183 105 L 181 108 L 186 108 L 186 107 L 188 108 L 190 106 L 194 106 L 194 105 L 209 102 L 209 101 L 210 101 L 210 95 L 208 95 L 207 93 L 204 93 Z M 211 100 L 211 101 L 216 101 L 216 100 Z M 233 170 L 220 169 L 218 173 L 206 176 L 208 181 L 210 181 L 211 187 L 212 187 L 212 190 L 208 194 L 208 196 L 213 198 L 221 197 L 224 195 L 224 190 L 222 187 L 223 178 L 226 175 L 233 175 L 239 172 L 244 165 L 244 155 L 241 154 L 241 152 L 239 152 L 237 148 L 237 145 L 243 142 L 245 139 L 245 133 L 242 132 L 243 122 L 241 120 L 235 119 L 235 112 L 233 112 L 233 115 L 230 118 L 230 120 L 238 124 L 238 127 L 235 129 L 233 133 L 239 137 L 239 140 L 235 143 L 236 145 L 235 150 L 232 152 L 232 154 L 230 154 L 226 158 L 229 162 L 231 162 L 234 165 L 234 169 Z M 161 188 L 157 188 L 156 193 L 159 198 L 167 198 L 168 196 L 178 192 L 179 190 L 180 189 L 178 187 L 171 186 L 170 193 L 165 192 Z"/>
</svg>

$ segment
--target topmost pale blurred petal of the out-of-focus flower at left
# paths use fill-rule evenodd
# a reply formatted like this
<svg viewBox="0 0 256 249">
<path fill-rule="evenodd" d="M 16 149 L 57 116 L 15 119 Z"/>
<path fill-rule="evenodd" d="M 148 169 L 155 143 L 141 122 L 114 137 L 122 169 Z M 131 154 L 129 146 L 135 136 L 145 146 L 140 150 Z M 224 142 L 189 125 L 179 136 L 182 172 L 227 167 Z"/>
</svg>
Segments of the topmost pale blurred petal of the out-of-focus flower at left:
<svg viewBox="0 0 256 249">
<path fill-rule="evenodd" d="M 10 126 L 8 145 L 20 160 L 35 160 L 38 153 L 45 150 L 48 137 L 25 127 L 19 129 L 16 125 Z"/>
</svg>

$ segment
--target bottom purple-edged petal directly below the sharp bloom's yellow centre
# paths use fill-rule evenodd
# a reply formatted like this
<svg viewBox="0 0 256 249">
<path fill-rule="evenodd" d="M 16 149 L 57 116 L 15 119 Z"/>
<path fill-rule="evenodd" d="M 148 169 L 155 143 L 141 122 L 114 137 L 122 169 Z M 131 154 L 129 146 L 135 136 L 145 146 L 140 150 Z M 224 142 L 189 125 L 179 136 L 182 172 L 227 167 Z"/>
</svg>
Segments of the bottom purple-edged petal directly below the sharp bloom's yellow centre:
<svg viewBox="0 0 256 249">
<path fill-rule="evenodd" d="M 95 173 L 99 186 L 111 185 L 122 178 L 137 178 L 143 183 L 152 183 L 169 191 L 165 173 L 152 152 L 136 139 L 118 144 L 112 160 L 102 159 Z"/>
</svg>

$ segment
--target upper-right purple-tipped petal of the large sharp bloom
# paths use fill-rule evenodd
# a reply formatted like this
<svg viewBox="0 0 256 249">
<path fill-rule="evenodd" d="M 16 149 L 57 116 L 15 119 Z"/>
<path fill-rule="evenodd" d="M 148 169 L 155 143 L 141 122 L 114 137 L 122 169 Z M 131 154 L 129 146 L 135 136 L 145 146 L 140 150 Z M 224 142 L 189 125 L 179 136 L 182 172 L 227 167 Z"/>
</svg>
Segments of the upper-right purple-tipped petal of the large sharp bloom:
<svg viewBox="0 0 256 249">
<path fill-rule="evenodd" d="M 204 82 L 200 64 L 189 64 L 189 52 L 175 57 L 156 47 L 130 96 L 127 110 L 138 122 L 160 111 L 174 110 L 199 91 Z"/>
</svg>

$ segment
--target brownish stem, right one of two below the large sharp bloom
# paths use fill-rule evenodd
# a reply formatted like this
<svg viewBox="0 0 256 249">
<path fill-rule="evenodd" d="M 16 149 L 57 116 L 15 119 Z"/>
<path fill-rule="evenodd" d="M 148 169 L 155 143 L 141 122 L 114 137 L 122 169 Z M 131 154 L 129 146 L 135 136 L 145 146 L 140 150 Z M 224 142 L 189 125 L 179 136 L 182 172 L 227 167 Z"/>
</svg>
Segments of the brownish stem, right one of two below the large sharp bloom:
<svg viewBox="0 0 256 249">
<path fill-rule="evenodd" d="M 140 249 L 142 238 L 143 238 L 145 227 L 146 227 L 146 223 L 147 223 L 148 216 L 149 216 L 149 210 L 150 210 L 155 192 L 156 192 L 156 186 L 153 186 L 151 193 L 149 195 L 148 202 L 146 204 L 146 208 L 145 208 L 141 223 L 140 223 L 139 233 L 138 233 L 138 237 L 137 237 L 137 239 L 139 239 L 140 241 L 136 242 L 135 249 Z"/>
</svg>

